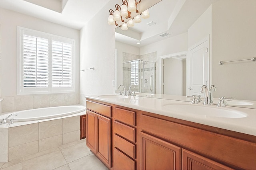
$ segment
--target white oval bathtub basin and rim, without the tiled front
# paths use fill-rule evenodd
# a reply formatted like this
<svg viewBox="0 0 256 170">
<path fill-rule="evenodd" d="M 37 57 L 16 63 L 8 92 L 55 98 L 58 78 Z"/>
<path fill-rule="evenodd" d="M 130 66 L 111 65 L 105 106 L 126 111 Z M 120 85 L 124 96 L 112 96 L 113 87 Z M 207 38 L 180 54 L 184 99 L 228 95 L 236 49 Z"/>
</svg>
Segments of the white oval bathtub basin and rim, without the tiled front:
<svg viewBox="0 0 256 170">
<path fill-rule="evenodd" d="M 67 115 L 72 115 L 75 113 L 80 113 L 86 110 L 84 106 L 58 106 L 58 107 L 44 107 L 40 109 L 30 109 L 23 111 L 16 111 L 12 113 L 7 113 L 0 116 L 0 120 L 5 119 L 9 115 L 16 113 L 17 116 L 11 116 L 6 121 L 10 121 L 10 119 L 15 119 L 13 122 L 19 121 L 33 121 L 33 120 L 41 120 L 41 119 L 50 119 L 54 117 L 62 117 Z"/>
</svg>

